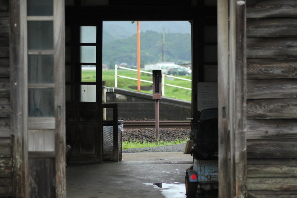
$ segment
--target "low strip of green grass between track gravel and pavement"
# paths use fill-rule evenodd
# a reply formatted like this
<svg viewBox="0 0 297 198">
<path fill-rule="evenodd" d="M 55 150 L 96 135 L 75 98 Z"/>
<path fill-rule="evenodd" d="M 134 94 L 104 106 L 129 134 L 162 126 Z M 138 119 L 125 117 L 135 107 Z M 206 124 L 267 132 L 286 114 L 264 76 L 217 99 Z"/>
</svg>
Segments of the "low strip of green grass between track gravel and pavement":
<svg viewBox="0 0 297 198">
<path fill-rule="evenodd" d="M 170 141 L 170 142 L 165 142 L 165 141 L 159 141 L 159 142 L 146 142 L 144 141 L 125 141 L 122 142 L 122 149 L 129 149 L 129 148 L 143 148 L 143 147 L 157 147 L 157 146 L 166 146 L 166 145 L 173 145 L 173 144 L 182 144 L 186 143 L 186 140 L 180 140 L 177 139 L 176 141 Z"/>
</svg>

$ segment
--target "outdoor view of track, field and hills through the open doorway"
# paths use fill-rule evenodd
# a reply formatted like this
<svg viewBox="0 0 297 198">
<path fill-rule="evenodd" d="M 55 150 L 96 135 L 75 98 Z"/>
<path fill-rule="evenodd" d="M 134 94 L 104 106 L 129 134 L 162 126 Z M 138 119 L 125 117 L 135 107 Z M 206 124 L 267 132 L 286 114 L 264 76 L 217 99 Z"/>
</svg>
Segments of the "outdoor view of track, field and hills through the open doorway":
<svg viewBox="0 0 297 198">
<path fill-rule="evenodd" d="M 102 35 L 106 102 L 118 103 L 119 119 L 124 120 L 124 148 L 134 148 L 136 145 L 132 143 L 139 147 L 144 146 L 140 145 L 144 142 L 148 143 L 146 146 L 185 142 L 190 130 L 186 118 L 191 117 L 192 99 L 191 24 L 188 21 L 104 21 Z M 155 133 L 152 70 L 161 70 L 164 78 L 159 105 L 159 142 Z M 111 110 L 107 109 L 106 117 L 112 119 Z"/>
</svg>

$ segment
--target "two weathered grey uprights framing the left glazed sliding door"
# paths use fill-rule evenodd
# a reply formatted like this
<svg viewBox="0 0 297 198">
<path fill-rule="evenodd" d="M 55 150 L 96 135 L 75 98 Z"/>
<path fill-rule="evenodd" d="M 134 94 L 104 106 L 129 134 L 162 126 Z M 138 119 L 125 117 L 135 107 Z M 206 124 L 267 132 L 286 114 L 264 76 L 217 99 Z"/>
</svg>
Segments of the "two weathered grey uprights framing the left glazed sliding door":
<svg viewBox="0 0 297 198">
<path fill-rule="evenodd" d="M 10 1 L 10 100 L 12 134 L 12 197 L 29 197 L 28 48 L 26 0 Z M 53 0 L 54 152 L 35 152 L 35 158 L 55 158 L 56 197 L 66 197 L 64 0 Z M 34 21 L 38 21 L 38 17 Z M 42 18 L 43 20 L 43 18 Z M 42 21 L 41 20 L 41 21 Z M 39 52 L 42 54 L 44 52 Z M 57 77 L 57 75 L 59 75 Z M 47 88 L 47 87 L 46 87 Z M 61 109 L 59 112 L 58 106 Z M 52 124 L 53 122 L 51 122 Z M 37 154 L 36 154 L 37 153 Z M 41 154 L 40 156 L 37 156 Z"/>
</svg>

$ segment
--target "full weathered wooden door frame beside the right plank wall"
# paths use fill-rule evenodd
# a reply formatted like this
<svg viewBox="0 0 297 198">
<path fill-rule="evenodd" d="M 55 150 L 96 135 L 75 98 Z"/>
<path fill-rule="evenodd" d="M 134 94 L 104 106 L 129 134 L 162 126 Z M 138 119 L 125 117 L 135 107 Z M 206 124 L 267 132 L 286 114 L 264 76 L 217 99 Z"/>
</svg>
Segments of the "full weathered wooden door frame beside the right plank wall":
<svg viewBox="0 0 297 198">
<path fill-rule="evenodd" d="M 219 198 L 247 197 L 246 2 L 218 0 Z"/>
</svg>

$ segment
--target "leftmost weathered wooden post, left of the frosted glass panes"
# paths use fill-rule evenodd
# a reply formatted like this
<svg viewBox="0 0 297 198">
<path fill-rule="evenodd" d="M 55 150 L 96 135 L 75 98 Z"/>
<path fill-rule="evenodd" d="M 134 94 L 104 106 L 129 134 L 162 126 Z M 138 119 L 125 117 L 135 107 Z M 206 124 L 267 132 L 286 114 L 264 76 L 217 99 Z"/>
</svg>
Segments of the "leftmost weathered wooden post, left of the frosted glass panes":
<svg viewBox="0 0 297 198">
<path fill-rule="evenodd" d="M 29 197 L 26 0 L 10 0 L 12 197 Z M 26 50 L 25 50 L 26 49 Z"/>
</svg>

